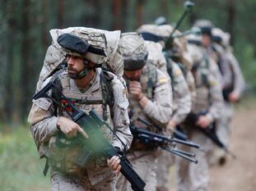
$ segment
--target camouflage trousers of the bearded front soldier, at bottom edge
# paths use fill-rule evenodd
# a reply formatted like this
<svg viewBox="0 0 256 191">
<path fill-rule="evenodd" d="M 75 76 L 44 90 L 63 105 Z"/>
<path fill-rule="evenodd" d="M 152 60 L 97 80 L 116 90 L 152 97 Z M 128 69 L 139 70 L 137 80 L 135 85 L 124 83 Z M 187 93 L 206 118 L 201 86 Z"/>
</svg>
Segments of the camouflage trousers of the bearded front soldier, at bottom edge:
<svg viewBox="0 0 256 191">
<path fill-rule="evenodd" d="M 93 180 L 86 171 L 76 175 L 64 175 L 51 171 L 52 191 L 115 191 L 116 175 L 109 168 L 105 172 L 95 171 Z"/>
</svg>

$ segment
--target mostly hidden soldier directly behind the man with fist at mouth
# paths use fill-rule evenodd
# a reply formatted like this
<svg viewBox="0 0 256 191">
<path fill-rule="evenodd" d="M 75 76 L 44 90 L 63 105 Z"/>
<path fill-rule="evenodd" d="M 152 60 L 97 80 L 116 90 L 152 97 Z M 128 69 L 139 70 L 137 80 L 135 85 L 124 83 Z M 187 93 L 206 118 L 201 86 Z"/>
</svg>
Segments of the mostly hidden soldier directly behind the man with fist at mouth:
<svg viewBox="0 0 256 191">
<path fill-rule="evenodd" d="M 139 31 L 142 34 L 145 34 L 146 32 L 148 34 L 157 34 L 157 36 L 161 39 L 159 42 L 164 44 L 164 39 L 167 39 L 167 37 L 170 35 L 171 28 L 170 25 L 142 25 L 139 28 Z M 147 37 L 145 39 L 147 39 Z M 191 94 L 189 92 L 189 86 L 184 78 L 184 75 L 187 74 L 184 74 L 179 65 L 175 63 L 175 61 L 172 61 L 168 55 L 165 54 L 164 56 L 164 54 L 161 52 L 162 48 L 158 48 L 160 50 L 157 51 L 156 47 L 158 47 L 157 44 L 159 43 L 154 43 L 152 41 L 146 42 L 149 52 L 147 59 L 170 76 L 171 87 L 173 90 L 174 111 L 171 120 L 166 126 L 166 134 L 171 134 L 175 130 L 176 126 L 180 125 L 184 121 L 185 117 L 189 114 L 191 109 Z M 179 43 L 179 45 L 180 44 L 181 43 Z M 182 45 L 179 46 L 179 48 L 181 47 Z M 182 55 L 184 55 L 184 53 L 180 52 L 180 54 L 176 55 L 176 57 L 182 57 Z M 161 59 L 158 59 L 158 62 L 154 61 L 154 58 L 156 57 Z M 159 61 L 161 61 L 161 63 L 159 63 Z M 170 153 L 161 152 L 161 156 L 158 158 L 157 165 L 157 190 L 169 190 L 169 169 L 170 166 L 173 165 L 174 161 L 175 159 L 172 155 L 170 155 Z"/>
</svg>

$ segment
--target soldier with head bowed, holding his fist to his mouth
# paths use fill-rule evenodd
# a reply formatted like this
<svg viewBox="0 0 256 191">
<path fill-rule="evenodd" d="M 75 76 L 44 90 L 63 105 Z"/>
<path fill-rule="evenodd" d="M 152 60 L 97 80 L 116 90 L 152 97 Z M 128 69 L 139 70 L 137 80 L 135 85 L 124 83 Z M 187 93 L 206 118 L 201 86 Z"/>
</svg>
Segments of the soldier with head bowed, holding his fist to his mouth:
<svg viewBox="0 0 256 191">
<path fill-rule="evenodd" d="M 164 72 L 147 62 L 145 42 L 137 33 L 123 34 L 120 51 L 124 59 L 124 79 L 128 84 L 130 121 L 139 128 L 159 132 L 170 121 L 172 113 L 170 81 Z M 138 121 L 142 118 L 154 127 Z M 161 130 L 160 130 L 161 131 Z M 128 152 L 133 168 L 146 182 L 145 190 L 156 191 L 156 148 L 150 148 L 133 139 Z M 120 175 L 118 190 L 130 190 L 128 181 Z"/>
</svg>

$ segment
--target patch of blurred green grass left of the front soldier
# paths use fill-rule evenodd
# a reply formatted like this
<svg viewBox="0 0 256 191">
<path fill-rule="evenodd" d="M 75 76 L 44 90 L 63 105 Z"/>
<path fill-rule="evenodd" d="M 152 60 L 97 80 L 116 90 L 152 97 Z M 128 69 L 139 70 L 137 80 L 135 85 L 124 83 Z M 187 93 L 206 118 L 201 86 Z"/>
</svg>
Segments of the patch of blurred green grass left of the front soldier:
<svg viewBox="0 0 256 191">
<path fill-rule="evenodd" d="M 44 177 L 44 160 L 39 159 L 27 128 L 2 127 L 0 132 L 0 190 L 49 190 Z"/>
</svg>

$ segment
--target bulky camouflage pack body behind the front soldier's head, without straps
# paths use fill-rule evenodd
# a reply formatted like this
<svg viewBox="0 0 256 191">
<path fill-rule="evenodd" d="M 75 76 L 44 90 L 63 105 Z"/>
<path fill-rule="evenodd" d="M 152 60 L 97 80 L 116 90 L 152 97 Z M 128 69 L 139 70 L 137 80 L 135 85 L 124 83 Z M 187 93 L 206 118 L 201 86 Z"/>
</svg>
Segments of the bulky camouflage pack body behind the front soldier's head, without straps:
<svg viewBox="0 0 256 191">
<path fill-rule="evenodd" d="M 44 65 L 40 71 L 40 78 L 37 83 L 36 92 L 41 89 L 44 80 L 61 68 L 65 67 L 65 52 L 57 43 L 58 36 L 64 33 L 71 33 L 86 39 L 89 43 L 103 48 L 106 57 L 102 60 L 101 67 L 109 70 L 119 78 L 123 76 L 123 59 L 119 55 L 119 39 L 121 32 L 119 30 L 107 31 L 96 30 L 86 27 L 69 27 L 62 30 L 50 30 L 52 43 L 47 49 L 44 57 Z"/>
</svg>

